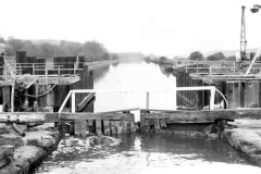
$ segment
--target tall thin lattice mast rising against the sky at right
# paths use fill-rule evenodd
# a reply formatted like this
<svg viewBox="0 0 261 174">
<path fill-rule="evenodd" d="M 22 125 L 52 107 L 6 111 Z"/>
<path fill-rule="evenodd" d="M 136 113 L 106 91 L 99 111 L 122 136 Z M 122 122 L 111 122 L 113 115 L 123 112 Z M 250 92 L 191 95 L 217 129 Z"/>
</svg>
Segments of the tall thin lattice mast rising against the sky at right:
<svg viewBox="0 0 261 174">
<path fill-rule="evenodd" d="M 241 7 L 241 32 L 240 32 L 240 59 L 241 59 L 241 61 L 247 59 L 247 54 L 246 54 L 247 39 L 246 39 L 246 24 L 245 24 L 245 8 L 246 7 Z"/>
</svg>

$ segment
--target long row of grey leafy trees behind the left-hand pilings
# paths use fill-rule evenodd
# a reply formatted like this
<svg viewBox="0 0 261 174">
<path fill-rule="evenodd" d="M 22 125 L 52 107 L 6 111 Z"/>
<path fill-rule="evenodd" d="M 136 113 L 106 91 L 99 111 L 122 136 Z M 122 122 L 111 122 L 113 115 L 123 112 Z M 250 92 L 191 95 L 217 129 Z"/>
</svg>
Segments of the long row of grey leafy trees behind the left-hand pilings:
<svg viewBox="0 0 261 174">
<path fill-rule="evenodd" d="M 26 51 L 28 57 L 37 57 L 51 60 L 53 57 L 85 57 L 85 61 L 119 60 L 116 53 L 110 53 L 107 48 L 98 41 L 76 41 L 61 40 L 57 44 L 36 42 L 9 37 L 7 40 L 0 38 L 0 42 L 5 45 L 5 55 L 14 57 L 16 51 Z"/>
</svg>

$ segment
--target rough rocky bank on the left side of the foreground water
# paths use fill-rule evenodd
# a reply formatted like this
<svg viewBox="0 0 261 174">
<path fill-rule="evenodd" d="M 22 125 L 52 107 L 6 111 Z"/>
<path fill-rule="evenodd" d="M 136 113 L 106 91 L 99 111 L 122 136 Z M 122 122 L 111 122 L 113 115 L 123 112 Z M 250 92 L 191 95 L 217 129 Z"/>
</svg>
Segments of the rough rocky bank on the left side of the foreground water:
<svg viewBox="0 0 261 174">
<path fill-rule="evenodd" d="M 25 132 L 25 137 L 16 134 L 10 125 L 2 128 L 0 145 L 14 146 L 14 152 L 9 163 L 0 169 L 1 174 L 27 174 L 55 149 L 60 140 L 60 134 L 52 123 L 30 128 L 21 125 L 20 128 Z"/>
</svg>

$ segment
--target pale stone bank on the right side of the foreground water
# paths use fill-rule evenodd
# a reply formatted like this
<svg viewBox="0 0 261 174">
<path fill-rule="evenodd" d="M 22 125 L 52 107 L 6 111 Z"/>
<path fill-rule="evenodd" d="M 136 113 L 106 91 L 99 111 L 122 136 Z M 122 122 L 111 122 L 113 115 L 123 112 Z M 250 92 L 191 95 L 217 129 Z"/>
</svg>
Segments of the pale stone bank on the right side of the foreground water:
<svg viewBox="0 0 261 174">
<path fill-rule="evenodd" d="M 223 138 L 261 166 L 261 121 L 235 120 L 231 124 L 237 128 L 225 129 Z"/>
</svg>

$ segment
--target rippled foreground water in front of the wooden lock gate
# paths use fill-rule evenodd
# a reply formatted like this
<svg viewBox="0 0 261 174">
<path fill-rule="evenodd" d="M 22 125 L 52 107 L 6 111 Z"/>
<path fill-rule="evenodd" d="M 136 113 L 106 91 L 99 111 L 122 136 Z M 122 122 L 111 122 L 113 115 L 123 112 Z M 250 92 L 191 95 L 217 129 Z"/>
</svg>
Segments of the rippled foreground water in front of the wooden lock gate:
<svg viewBox="0 0 261 174">
<path fill-rule="evenodd" d="M 204 167 L 261 172 L 222 140 L 151 134 L 116 139 L 119 144 L 110 146 L 110 139 L 96 138 L 88 149 L 83 146 L 86 139 L 71 138 L 70 149 L 63 140 L 34 173 L 154 173 L 160 169 L 207 173 Z"/>
</svg>

